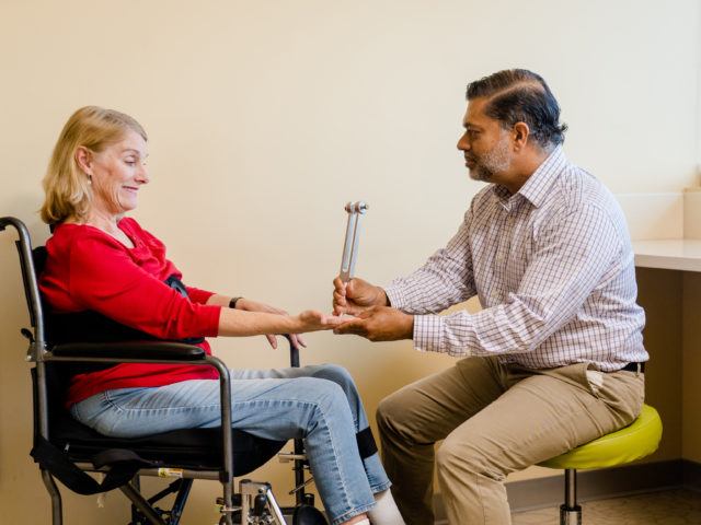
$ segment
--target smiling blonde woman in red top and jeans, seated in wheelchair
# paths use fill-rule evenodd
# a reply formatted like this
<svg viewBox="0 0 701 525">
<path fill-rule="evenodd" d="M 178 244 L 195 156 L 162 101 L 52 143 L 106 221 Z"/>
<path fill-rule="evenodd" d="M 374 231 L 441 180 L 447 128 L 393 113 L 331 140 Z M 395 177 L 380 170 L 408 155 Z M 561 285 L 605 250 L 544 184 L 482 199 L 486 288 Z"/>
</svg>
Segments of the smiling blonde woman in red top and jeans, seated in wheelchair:
<svg viewBox="0 0 701 525">
<path fill-rule="evenodd" d="M 44 178 L 42 219 L 51 225 L 39 284 L 55 323 L 70 340 L 185 340 L 210 352 L 205 337 L 301 334 L 337 318 L 299 315 L 249 299 L 183 284 L 165 246 L 125 213 L 149 182 L 147 135 L 128 115 L 89 106 L 64 127 Z M 292 343 L 302 345 L 300 336 Z M 336 365 L 232 370 L 233 427 L 285 441 L 301 438 L 332 524 L 403 523 L 349 374 Z M 71 376 L 66 406 L 110 436 L 136 438 L 220 424 L 217 373 L 196 365 L 122 363 Z M 376 448 L 375 448 L 376 450 Z M 369 520 L 369 522 L 368 522 Z"/>
</svg>

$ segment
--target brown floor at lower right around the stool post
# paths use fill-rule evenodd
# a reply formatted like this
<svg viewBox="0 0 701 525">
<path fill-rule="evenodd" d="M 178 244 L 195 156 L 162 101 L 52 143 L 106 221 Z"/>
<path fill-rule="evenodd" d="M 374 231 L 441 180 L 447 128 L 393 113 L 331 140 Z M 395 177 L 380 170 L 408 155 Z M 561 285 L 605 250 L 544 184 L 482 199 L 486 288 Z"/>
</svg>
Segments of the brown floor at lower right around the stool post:
<svg viewBox="0 0 701 525">
<path fill-rule="evenodd" d="M 701 493 L 687 489 L 589 501 L 583 525 L 700 525 Z M 558 509 L 513 514 L 513 525 L 559 525 Z"/>
</svg>

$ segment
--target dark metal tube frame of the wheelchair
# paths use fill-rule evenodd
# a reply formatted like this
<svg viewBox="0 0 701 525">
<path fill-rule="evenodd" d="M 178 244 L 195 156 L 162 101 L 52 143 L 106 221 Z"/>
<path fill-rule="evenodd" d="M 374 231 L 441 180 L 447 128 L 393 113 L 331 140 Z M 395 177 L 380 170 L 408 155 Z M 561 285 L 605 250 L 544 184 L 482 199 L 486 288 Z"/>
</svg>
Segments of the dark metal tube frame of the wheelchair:
<svg viewBox="0 0 701 525">
<path fill-rule="evenodd" d="M 196 364 L 203 366 L 212 366 L 219 373 L 219 392 L 221 402 L 221 439 L 222 439 L 222 465 L 219 470 L 198 470 L 198 469 L 181 469 L 174 468 L 174 477 L 176 479 L 166 489 L 162 490 L 154 497 L 147 500 L 139 492 L 140 476 L 159 476 L 168 477 L 169 469 L 162 468 L 141 468 L 130 483 L 125 483 L 119 489 L 131 501 L 133 522 L 131 525 L 145 523 L 141 518 L 147 520 L 154 525 L 175 525 L 180 521 L 180 516 L 184 509 L 189 489 L 194 479 L 219 480 L 222 485 L 222 497 L 217 499 L 220 504 L 221 518 L 220 524 L 232 525 L 234 514 L 240 514 L 240 523 L 250 524 L 272 524 L 285 525 L 283 512 L 291 512 L 300 506 L 313 506 L 313 494 L 307 493 L 304 487 L 313 479 L 304 480 L 306 455 L 301 440 L 295 440 L 295 452 L 292 454 L 281 453 L 279 456 L 283 462 L 292 460 L 295 463 L 295 482 L 296 488 L 296 508 L 280 509 L 272 493 L 271 486 L 264 482 L 241 480 L 240 493 L 234 494 L 233 487 L 233 442 L 231 427 L 231 378 L 229 369 L 225 363 L 214 357 L 207 355 L 203 349 L 192 345 L 181 342 L 163 342 L 163 341 L 146 341 L 136 343 L 66 343 L 57 345 L 48 348 L 45 335 L 44 312 L 37 284 L 37 276 L 35 273 L 34 260 L 32 257 L 32 243 L 28 231 L 24 223 L 12 217 L 0 218 L 0 232 L 4 231 L 8 225 L 13 226 L 19 234 L 16 241 L 20 252 L 20 266 L 24 281 L 24 289 L 27 299 L 30 318 L 34 332 L 28 329 L 22 329 L 22 334 L 30 340 L 30 348 L 26 354 L 26 361 L 35 363 L 37 382 L 36 382 L 36 407 L 38 434 L 45 440 L 49 440 L 49 415 L 48 415 L 48 393 L 46 382 L 46 365 L 49 363 L 160 363 L 160 364 Z M 290 365 L 299 366 L 299 351 L 290 342 Z M 138 357 L 136 357 L 138 354 Z M 106 468 L 95 468 L 89 463 L 76 463 L 76 466 L 83 471 L 104 472 Z M 61 494 L 54 480 L 53 475 L 39 466 L 42 480 L 48 491 L 51 500 L 51 520 L 53 525 L 62 524 L 62 503 Z M 160 499 L 176 493 L 175 502 L 170 511 L 162 511 L 154 506 Z M 318 511 L 317 511 L 318 512 Z M 140 515 L 139 515 L 140 514 Z M 301 513 L 300 513 L 301 514 Z M 165 521 L 163 516 L 168 516 Z M 314 514 L 315 515 L 315 514 Z M 319 513 L 319 515 L 321 515 Z M 306 521 L 308 524 L 326 523 L 322 518 L 312 518 Z M 300 525 L 302 525 L 300 523 Z"/>
</svg>

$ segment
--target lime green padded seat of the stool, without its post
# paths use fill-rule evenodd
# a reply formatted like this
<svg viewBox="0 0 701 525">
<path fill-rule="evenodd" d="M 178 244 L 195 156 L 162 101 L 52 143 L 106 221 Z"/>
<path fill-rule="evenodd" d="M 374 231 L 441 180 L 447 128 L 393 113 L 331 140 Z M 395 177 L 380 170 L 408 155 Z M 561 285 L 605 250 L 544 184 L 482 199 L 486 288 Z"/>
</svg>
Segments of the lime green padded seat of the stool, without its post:
<svg viewBox="0 0 701 525">
<path fill-rule="evenodd" d="M 637 419 L 628 427 L 539 465 L 562 469 L 613 467 L 652 454 L 657 450 L 660 439 L 662 420 L 657 410 L 643 405 Z"/>
</svg>

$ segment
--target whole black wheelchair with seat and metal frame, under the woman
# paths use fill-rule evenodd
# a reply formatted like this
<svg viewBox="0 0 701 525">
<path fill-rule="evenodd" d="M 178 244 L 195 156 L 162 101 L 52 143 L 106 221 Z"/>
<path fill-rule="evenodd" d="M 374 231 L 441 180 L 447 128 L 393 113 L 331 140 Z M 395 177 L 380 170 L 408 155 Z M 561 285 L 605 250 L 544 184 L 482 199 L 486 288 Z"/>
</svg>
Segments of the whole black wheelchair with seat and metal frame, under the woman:
<svg viewBox="0 0 701 525">
<path fill-rule="evenodd" d="M 12 226 L 30 313 L 32 329 L 23 328 L 30 341 L 26 360 L 33 364 L 34 447 L 42 480 L 51 499 L 51 523 L 61 525 L 61 494 L 55 479 L 80 494 L 94 494 L 119 489 L 131 502 L 129 525 L 177 525 L 195 479 L 221 482 L 217 499 L 220 525 L 294 525 L 326 524 L 314 508 L 314 495 L 306 488 L 313 481 L 301 440 L 295 440 L 294 452 L 280 453 L 285 442 L 264 440 L 231 428 L 231 385 L 223 362 L 194 345 L 157 340 L 128 342 L 68 342 L 51 345 L 47 330 L 37 276 L 46 260 L 46 248 L 32 249 L 28 231 L 15 218 L 0 218 L 0 232 Z M 49 323 L 50 324 L 50 323 Z M 290 365 L 299 366 L 298 349 L 290 343 Z M 187 429 L 140 439 L 115 439 L 99 434 L 76 421 L 62 406 L 67 385 L 67 366 L 114 365 L 115 363 L 170 363 L 212 366 L 219 374 L 221 427 Z M 296 505 L 280 508 L 267 482 L 243 479 L 239 490 L 234 476 L 241 477 L 264 465 L 275 455 L 292 463 Z M 100 472 L 102 482 L 87 472 Z M 147 498 L 140 492 L 143 476 L 171 478 L 159 493 Z M 169 509 L 158 504 L 175 494 Z"/>
</svg>

